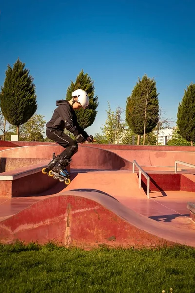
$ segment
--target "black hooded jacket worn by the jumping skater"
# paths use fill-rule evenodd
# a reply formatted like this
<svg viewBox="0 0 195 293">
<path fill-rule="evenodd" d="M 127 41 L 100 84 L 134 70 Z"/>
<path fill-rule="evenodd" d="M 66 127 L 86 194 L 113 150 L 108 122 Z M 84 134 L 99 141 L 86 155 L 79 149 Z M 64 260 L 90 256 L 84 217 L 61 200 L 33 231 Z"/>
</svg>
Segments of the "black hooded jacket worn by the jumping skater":
<svg viewBox="0 0 195 293">
<path fill-rule="evenodd" d="M 70 103 L 67 100 L 59 100 L 56 101 L 56 105 L 58 107 L 54 110 L 54 114 L 52 115 L 51 120 L 47 122 L 46 127 L 63 131 L 65 129 L 64 121 L 72 121 L 78 132 L 86 139 L 89 135 L 78 125 L 77 116 Z"/>
</svg>

